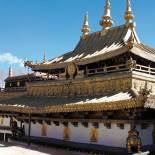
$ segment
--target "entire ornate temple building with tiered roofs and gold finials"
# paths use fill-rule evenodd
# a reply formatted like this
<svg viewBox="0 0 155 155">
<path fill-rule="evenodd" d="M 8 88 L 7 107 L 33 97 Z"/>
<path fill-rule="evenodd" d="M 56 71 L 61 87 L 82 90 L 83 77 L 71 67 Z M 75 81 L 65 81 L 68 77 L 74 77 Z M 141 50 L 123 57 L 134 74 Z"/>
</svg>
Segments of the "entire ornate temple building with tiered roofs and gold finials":
<svg viewBox="0 0 155 155">
<path fill-rule="evenodd" d="M 136 34 L 130 0 L 124 24 L 113 27 L 110 12 L 106 0 L 101 30 L 93 33 L 85 15 L 71 52 L 42 63 L 26 61 L 31 75 L 9 71 L 0 93 L 6 122 L 1 127 L 10 126 L 14 137 L 29 142 L 100 148 L 103 153 L 109 148 L 129 154 L 155 151 L 155 49 Z"/>
</svg>

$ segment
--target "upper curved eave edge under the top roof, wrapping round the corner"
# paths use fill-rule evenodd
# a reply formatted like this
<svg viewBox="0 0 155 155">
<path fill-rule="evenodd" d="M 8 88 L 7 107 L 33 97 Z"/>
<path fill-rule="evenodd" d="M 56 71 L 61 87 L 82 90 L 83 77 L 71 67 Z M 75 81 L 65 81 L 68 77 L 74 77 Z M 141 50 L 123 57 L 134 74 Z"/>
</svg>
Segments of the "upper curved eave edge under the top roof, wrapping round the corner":
<svg viewBox="0 0 155 155">
<path fill-rule="evenodd" d="M 117 50 L 113 50 L 113 51 L 110 51 L 110 52 L 107 52 L 101 55 L 97 55 L 91 58 L 84 58 L 84 59 L 75 60 L 71 62 L 74 62 L 76 65 L 86 65 L 86 64 L 94 63 L 94 62 L 101 61 L 101 60 L 107 60 L 107 59 L 116 57 L 118 55 L 121 55 L 125 52 L 131 52 L 139 57 L 155 62 L 155 53 L 153 52 L 151 53 L 147 49 L 143 49 L 139 47 L 138 44 L 133 45 L 132 49 L 129 49 L 128 46 L 125 45 Z M 53 63 L 53 64 L 34 64 L 31 66 L 31 68 L 33 71 L 59 69 L 59 68 L 65 68 L 71 62 Z"/>
</svg>

